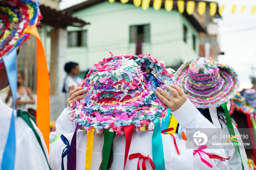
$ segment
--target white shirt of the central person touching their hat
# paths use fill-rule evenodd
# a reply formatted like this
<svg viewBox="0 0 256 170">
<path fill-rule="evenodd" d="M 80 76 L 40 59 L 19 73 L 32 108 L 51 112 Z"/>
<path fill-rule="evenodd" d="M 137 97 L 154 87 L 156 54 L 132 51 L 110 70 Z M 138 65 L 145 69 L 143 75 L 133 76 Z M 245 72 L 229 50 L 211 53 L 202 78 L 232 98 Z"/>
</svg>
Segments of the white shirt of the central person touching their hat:
<svg viewBox="0 0 256 170">
<path fill-rule="evenodd" d="M 193 106 L 193 104 L 187 100 L 177 111 L 172 112 L 176 120 L 182 124 L 185 129 L 190 128 L 212 128 L 216 129 L 212 123 L 210 123 L 200 112 Z M 63 134 L 71 143 L 72 136 L 74 134 L 75 127 L 72 127 L 72 123 L 69 120 L 70 114 L 67 113 L 67 109 L 61 113 L 60 117 L 56 121 L 56 131 L 50 133 L 50 138 L 54 139 L 58 135 Z M 71 132 L 71 129 L 73 132 Z M 129 154 L 141 153 L 142 155 L 149 155 L 152 159 L 152 131 L 145 131 L 142 133 L 136 133 L 133 131 L 131 147 Z M 78 130 L 77 132 L 77 170 L 85 169 L 86 160 L 86 130 Z M 176 135 L 175 135 L 176 136 Z M 199 154 L 193 155 L 193 149 L 185 148 L 185 141 L 176 138 L 176 143 L 180 151 L 180 155 L 174 147 L 173 138 L 171 135 L 162 134 L 163 151 L 165 157 L 165 169 L 166 170 L 186 170 L 186 169 L 203 169 L 203 170 L 226 170 L 227 162 L 221 162 L 218 159 L 210 159 L 207 155 L 201 153 L 202 157 L 208 161 L 213 167 L 210 168 L 204 164 Z M 102 147 L 104 143 L 104 136 L 94 133 L 94 145 L 93 156 L 91 162 L 91 169 L 98 170 L 102 161 Z M 61 154 L 66 147 L 62 140 L 58 138 L 55 142 L 50 144 L 50 166 L 53 170 L 61 170 Z M 225 157 L 224 149 L 204 149 L 206 153 L 216 154 L 221 157 Z M 113 163 L 111 170 L 120 170 L 124 168 L 124 153 L 125 153 L 125 135 L 114 135 L 113 139 Z M 127 159 L 125 170 L 137 169 L 138 158 L 129 160 Z M 140 160 L 140 168 L 142 169 L 142 159 Z M 151 169 L 151 165 L 146 161 L 146 168 Z M 64 158 L 64 169 L 67 169 L 67 158 Z"/>
</svg>

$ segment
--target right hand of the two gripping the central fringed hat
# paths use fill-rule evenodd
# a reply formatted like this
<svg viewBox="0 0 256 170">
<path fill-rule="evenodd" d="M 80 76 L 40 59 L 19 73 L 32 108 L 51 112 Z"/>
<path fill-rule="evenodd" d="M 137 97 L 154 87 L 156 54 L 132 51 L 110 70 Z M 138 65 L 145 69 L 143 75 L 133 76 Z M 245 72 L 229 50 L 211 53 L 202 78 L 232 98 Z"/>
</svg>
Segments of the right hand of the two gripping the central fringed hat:
<svg viewBox="0 0 256 170">
<path fill-rule="evenodd" d="M 163 85 L 164 88 L 169 90 L 172 95 L 163 91 L 161 88 L 157 87 L 157 91 L 155 95 L 165 104 L 171 111 L 176 111 L 180 108 L 186 101 L 187 97 L 185 96 L 184 92 L 181 90 L 180 87 L 172 84 L 172 87 L 168 85 Z"/>
</svg>

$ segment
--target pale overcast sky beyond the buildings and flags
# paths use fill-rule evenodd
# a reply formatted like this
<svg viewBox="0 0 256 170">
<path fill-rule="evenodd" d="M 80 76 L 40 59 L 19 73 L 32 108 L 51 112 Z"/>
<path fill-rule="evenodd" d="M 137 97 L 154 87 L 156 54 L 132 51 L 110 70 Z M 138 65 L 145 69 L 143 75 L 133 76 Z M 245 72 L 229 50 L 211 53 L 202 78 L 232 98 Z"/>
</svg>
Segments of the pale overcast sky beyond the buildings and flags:
<svg viewBox="0 0 256 170">
<path fill-rule="evenodd" d="M 84 0 L 62 0 L 60 9 L 82 3 Z M 219 7 L 225 4 L 222 19 L 215 20 L 218 23 L 218 40 L 221 51 L 225 55 L 219 55 L 219 62 L 228 64 L 237 71 L 240 79 L 240 89 L 251 88 L 251 75 L 256 76 L 256 13 L 251 14 L 251 9 L 256 6 L 255 0 L 217 0 Z M 232 5 L 237 5 L 236 12 L 231 14 Z M 242 5 L 246 5 L 245 11 L 240 12 Z"/>
</svg>

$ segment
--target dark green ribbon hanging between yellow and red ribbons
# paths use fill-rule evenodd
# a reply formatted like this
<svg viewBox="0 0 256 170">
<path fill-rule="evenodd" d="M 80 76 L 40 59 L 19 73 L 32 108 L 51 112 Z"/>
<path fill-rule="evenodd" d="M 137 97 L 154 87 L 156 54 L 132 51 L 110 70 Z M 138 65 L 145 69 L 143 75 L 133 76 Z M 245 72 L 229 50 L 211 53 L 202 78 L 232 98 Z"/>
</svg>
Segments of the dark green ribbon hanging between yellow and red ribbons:
<svg viewBox="0 0 256 170">
<path fill-rule="evenodd" d="M 101 170 L 107 170 L 113 138 L 114 138 L 114 132 L 110 132 L 109 129 L 104 131 L 104 144 L 103 144 Z"/>
</svg>

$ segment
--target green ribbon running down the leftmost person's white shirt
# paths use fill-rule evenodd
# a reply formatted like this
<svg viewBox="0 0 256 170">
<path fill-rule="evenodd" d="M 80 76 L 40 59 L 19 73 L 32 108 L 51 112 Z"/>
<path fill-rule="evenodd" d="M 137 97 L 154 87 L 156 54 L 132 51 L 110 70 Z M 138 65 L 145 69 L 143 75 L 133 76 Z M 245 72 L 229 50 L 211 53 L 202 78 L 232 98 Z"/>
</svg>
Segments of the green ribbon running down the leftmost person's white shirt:
<svg viewBox="0 0 256 170">
<path fill-rule="evenodd" d="M 17 111 L 17 116 L 20 116 L 23 120 L 25 120 L 27 125 L 29 125 L 29 127 L 33 130 L 33 132 L 35 134 L 35 137 L 37 138 L 37 141 L 38 141 L 39 145 L 41 146 L 41 149 L 42 149 L 42 151 L 45 155 L 45 151 L 44 151 L 41 139 L 40 139 L 39 135 L 37 134 L 37 131 L 35 130 L 33 124 L 31 123 L 31 121 L 29 119 L 29 118 L 31 118 L 35 122 L 35 117 L 28 114 L 26 111 L 22 111 L 22 110 Z M 35 124 L 36 124 L 36 122 L 35 122 Z M 46 162 L 48 163 L 46 155 L 45 155 L 45 159 L 46 159 Z M 48 166 L 49 166 L 49 163 L 48 163 Z M 50 166 L 49 166 L 49 169 L 50 169 Z"/>
</svg>

